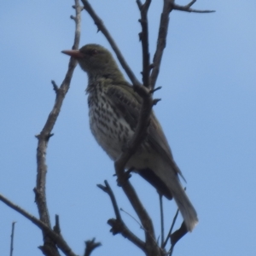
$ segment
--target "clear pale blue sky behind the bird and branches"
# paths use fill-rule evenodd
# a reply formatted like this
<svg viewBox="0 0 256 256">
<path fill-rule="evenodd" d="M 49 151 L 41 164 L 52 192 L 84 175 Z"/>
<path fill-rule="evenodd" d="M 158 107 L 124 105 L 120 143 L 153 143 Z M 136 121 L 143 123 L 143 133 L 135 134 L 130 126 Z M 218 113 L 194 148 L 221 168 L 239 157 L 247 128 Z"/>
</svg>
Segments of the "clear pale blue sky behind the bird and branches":
<svg viewBox="0 0 256 256">
<path fill-rule="evenodd" d="M 94 0 L 137 77 L 141 79 L 140 25 L 135 1 Z M 153 56 L 162 1 L 149 12 Z M 186 1 L 179 1 L 186 4 Z M 62 49 L 73 45 L 73 1 L 0 3 L 0 193 L 38 216 L 32 189 L 36 179 L 37 139 L 55 101 L 50 80 L 61 84 L 69 61 Z M 187 180 L 200 223 L 178 242 L 173 255 L 256 255 L 256 2 L 198 0 L 196 9 L 215 14 L 173 12 L 154 108 Z M 81 46 L 110 49 L 83 12 Z M 84 89 L 86 74 L 76 68 L 47 154 L 49 213 L 61 218 L 61 232 L 75 253 L 84 241 L 102 242 L 92 254 L 143 255 L 122 236 L 112 236 L 108 195 L 96 188 L 108 179 L 119 207 L 137 218 L 113 177 L 113 162 L 90 134 Z M 131 182 L 160 235 L 158 195 L 134 174 Z M 166 230 L 176 206 L 164 201 Z M 127 214 L 137 236 L 143 230 Z M 14 255 L 42 255 L 40 230 L 0 202 L 0 254 L 9 254 L 11 223 Z M 177 227 L 181 223 L 178 219 Z"/>
</svg>

